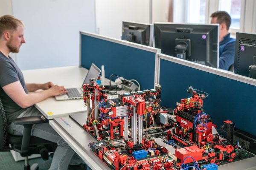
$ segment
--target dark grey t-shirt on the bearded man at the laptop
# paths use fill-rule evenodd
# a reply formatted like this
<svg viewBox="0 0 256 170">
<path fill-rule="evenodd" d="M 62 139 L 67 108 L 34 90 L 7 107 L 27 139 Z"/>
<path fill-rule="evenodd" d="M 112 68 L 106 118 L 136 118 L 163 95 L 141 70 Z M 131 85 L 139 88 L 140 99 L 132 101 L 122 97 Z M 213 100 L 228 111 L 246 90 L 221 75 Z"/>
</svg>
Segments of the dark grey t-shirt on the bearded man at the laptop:
<svg viewBox="0 0 256 170">
<path fill-rule="evenodd" d="M 25 80 L 20 68 L 16 65 L 13 59 L 7 58 L 0 51 L 0 98 L 3 103 L 3 108 L 8 118 L 8 124 L 12 123 L 17 116 L 20 115 L 26 109 L 21 108 L 17 105 L 4 91 L 3 87 L 9 85 L 12 82 L 20 81 L 24 91 L 28 94 Z"/>
</svg>

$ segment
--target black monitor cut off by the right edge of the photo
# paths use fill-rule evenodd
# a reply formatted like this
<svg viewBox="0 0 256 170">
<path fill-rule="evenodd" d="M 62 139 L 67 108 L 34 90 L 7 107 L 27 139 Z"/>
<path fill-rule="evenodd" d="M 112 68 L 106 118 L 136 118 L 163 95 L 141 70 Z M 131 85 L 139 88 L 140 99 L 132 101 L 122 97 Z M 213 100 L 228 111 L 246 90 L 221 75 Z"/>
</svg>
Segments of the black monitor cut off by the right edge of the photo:
<svg viewBox="0 0 256 170">
<path fill-rule="evenodd" d="M 236 33 L 234 73 L 250 77 L 250 74 L 253 74 L 253 70 L 255 70 L 253 65 L 256 65 L 256 34 L 238 32 Z"/>
</svg>

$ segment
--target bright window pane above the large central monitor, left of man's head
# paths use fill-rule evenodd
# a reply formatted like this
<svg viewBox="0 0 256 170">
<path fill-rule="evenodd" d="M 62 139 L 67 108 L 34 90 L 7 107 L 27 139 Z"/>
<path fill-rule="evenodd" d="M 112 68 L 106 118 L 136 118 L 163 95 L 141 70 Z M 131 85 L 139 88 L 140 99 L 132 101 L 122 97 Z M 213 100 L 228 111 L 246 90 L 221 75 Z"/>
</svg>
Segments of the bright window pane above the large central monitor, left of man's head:
<svg viewBox="0 0 256 170">
<path fill-rule="evenodd" d="M 207 0 L 187 0 L 186 23 L 206 23 Z"/>
</svg>

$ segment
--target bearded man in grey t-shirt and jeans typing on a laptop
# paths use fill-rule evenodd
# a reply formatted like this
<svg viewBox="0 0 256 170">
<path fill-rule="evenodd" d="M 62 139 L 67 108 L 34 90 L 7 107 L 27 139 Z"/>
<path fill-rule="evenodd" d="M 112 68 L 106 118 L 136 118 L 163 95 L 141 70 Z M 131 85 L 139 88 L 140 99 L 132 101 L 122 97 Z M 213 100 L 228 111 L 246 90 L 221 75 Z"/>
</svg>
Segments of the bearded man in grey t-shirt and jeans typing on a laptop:
<svg viewBox="0 0 256 170">
<path fill-rule="evenodd" d="M 8 118 L 8 132 L 14 135 L 23 134 L 23 126 L 15 125 L 14 119 L 26 116 L 41 116 L 34 104 L 67 93 L 63 86 L 52 82 L 44 84 L 25 83 L 20 68 L 9 53 L 18 53 L 25 43 L 22 21 L 12 15 L 0 17 L 0 99 Z M 37 91 L 42 89 L 43 91 Z M 33 91 L 34 93 L 29 93 Z M 0 125 L 1 126 L 1 125 Z M 82 160 L 74 154 L 72 148 L 52 129 L 49 123 L 35 124 L 31 130 L 32 136 L 37 136 L 58 144 L 49 170 L 66 170 L 70 164 L 81 164 Z"/>
</svg>

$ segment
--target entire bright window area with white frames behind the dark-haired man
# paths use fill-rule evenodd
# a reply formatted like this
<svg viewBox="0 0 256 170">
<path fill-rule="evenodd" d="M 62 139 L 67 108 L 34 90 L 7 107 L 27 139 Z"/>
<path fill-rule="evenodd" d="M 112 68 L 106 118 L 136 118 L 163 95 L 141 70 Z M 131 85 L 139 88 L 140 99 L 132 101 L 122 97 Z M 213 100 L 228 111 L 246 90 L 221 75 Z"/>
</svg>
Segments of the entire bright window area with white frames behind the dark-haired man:
<svg viewBox="0 0 256 170">
<path fill-rule="evenodd" d="M 230 33 L 256 33 L 256 0 L 173 0 L 174 22 L 210 23 L 211 14 L 227 11 L 231 17 Z"/>
</svg>

